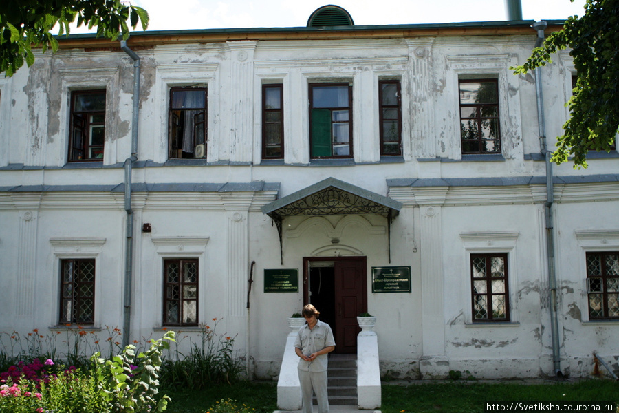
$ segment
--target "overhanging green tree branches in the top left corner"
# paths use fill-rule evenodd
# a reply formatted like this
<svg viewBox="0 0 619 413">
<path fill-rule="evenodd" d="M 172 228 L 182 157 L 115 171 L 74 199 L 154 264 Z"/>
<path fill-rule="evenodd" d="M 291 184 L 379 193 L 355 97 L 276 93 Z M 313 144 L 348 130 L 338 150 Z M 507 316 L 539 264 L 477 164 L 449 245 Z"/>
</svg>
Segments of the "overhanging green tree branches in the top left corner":
<svg viewBox="0 0 619 413">
<path fill-rule="evenodd" d="M 58 25 L 58 35 L 69 34 L 69 25 L 97 28 L 97 36 L 111 41 L 129 38 L 129 26 L 135 30 L 149 25 L 149 14 L 143 8 L 127 5 L 121 0 L 20 0 L 4 1 L 0 8 L 0 72 L 12 76 L 25 62 L 34 63 L 32 47 L 43 52 L 58 50 L 52 28 Z"/>
</svg>

